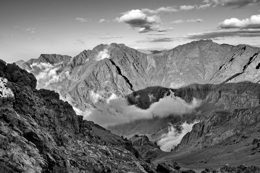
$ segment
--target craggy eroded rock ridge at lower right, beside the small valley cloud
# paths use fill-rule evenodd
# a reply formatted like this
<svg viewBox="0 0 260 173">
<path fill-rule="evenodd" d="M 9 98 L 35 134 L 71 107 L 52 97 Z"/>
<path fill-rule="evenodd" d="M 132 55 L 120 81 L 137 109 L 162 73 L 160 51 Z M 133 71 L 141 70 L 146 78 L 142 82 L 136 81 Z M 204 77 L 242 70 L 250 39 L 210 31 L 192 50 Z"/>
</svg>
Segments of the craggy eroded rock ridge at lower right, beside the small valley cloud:
<svg viewBox="0 0 260 173">
<path fill-rule="evenodd" d="M 235 109 L 232 113 L 214 112 L 210 117 L 195 124 L 192 130 L 183 137 L 174 151 L 185 148 L 203 148 L 216 144 L 229 144 L 245 140 L 253 130 L 257 133 L 260 124 L 260 107 Z M 247 138 L 247 137 L 246 137 Z M 248 153 L 250 154 L 250 153 Z"/>
</svg>

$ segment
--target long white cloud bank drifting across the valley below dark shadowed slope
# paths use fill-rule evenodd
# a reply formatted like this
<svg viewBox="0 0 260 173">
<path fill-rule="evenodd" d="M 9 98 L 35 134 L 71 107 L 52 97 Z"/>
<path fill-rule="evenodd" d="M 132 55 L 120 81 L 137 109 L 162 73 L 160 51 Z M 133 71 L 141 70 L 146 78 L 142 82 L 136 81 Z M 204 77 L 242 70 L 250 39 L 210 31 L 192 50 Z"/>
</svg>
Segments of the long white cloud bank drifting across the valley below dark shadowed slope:
<svg viewBox="0 0 260 173">
<path fill-rule="evenodd" d="M 172 93 L 144 110 L 135 105 L 129 105 L 126 98 L 116 96 L 113 93 L 109 95 L 106 93 L 105 96 L 103 92 L 94 92 L 94 95 L 95 93 L 97 96 L 92 95 L 94 106 L 85 113 L 83 112 L 83 116 L 84 119 L 104 127 L 140 119 L 189 114 L 200 104 L 200 101 L 195 98 L 190 103 L 186 103 L 185 100 Z"/>
</svg>

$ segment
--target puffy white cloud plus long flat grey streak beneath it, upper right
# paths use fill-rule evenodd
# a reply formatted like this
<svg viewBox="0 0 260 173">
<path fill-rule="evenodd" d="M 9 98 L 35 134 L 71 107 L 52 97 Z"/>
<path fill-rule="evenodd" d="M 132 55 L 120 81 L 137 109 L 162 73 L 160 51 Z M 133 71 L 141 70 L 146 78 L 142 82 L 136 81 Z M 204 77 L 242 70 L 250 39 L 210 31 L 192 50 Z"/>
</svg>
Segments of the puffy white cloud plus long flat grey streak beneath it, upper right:
<svg viewBox="0 0 260 173">
<path fill-rule="evenodd" d="M 219 23 L 219 29 L 188 34 L 187 39 L 213 39 L 224 37 L 260 37 L 260 15 L 239 20 L 237 18 L 225 19 Z"/>
</svg>

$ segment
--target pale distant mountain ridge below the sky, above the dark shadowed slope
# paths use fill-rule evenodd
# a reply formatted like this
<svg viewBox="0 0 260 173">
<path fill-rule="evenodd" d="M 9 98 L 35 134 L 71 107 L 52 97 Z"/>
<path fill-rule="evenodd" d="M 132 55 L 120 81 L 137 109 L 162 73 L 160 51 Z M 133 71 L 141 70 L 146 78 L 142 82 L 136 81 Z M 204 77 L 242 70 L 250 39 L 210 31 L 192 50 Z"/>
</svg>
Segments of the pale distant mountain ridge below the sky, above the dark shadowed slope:
<svg viewBox="0 0 260 173">
<path fill-rule="evenodd" d="M 186 43 L 154 54 L 111 43 L 84 50 L 74 58 L 41 55 L 38 59 L 16 63 L 36 75 L 38 88 L 53 89 L 74 106 L 84 109 L 92 102 L 90 92 L 97 90 L 127 95 L 150 86 L 178 88 L 194 83 L 246 80 L 259 83 L 259 52 L 257 47 L 218 44 L 211 40 Z M 31 67 L 44 63 L 50 66 Z M 43 69 L 45 73 L 41 73 Z"/>
</svg>

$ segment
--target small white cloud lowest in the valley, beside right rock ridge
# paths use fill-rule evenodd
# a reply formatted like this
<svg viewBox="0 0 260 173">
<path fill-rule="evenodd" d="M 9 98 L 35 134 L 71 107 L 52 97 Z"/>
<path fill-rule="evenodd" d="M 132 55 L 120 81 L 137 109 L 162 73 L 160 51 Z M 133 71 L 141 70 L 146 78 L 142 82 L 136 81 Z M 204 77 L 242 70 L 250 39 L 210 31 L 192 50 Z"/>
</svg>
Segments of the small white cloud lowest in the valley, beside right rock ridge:
<svg viewBox="0 0 260 173">
<path fill-rule="evenodd" d="M 192 126 L 198 122 L 182 124 L 181 131 L 176 130 L 172 125 L 168 127 L 168 133 L 162 135 L 161 139 L 157 142 L 162 151 L 171 151 L 172 148 L 177 146 L 187 132 L 192 130 Z"/>
</svg>

